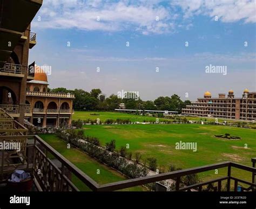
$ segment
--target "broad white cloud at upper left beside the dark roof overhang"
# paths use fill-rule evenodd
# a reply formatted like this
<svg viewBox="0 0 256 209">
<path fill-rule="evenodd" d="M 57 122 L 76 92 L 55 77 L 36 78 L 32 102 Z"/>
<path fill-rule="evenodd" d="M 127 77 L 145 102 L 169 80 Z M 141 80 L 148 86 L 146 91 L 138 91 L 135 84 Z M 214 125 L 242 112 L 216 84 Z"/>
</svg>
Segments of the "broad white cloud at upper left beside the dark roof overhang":
<svg viewBox="0 0 256 209">
<path fill-rule="evenodd" d="M 174 27 L 172 19 L 176 16 L 171 16 L 166 8 L 156 3 L 45 0 L 39 10 L 41 22 L 35 21 L 34 26 L 102 31 L 131 29 L 143 34 L 171 32 Z"/>
</svg>

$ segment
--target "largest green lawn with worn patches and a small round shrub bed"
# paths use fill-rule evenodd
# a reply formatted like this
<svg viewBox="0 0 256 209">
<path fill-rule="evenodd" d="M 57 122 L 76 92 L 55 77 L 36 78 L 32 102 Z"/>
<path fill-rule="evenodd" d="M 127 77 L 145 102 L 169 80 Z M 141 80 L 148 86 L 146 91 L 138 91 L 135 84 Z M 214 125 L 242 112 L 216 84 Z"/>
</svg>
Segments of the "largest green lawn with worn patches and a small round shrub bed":
<svg viewBox="0 0 256 209">
<path fill-rule="evenodd" d="M 157 158 L 159 166 L 167 170 L 170 164 L 178 168 L 233 161 L 252 166 L 251 158 L 256 157 L 256 130 L 201 125 L 201 124 L 129 124 L 129 125 L 99 125 L 84 126 L 85 135 L 96 136 L 102 145 L 110 140 L 116 140 L 117 149 L 130 145 L 129 151 L 142 153 L 143 158 Z M 214 137 L 215 134 L 229 133 L 240 136 L 241 140 L 223 140 Z M 176 150 L 176 142 L 197 142 L 197 152 L 192 150 Z M 248 149 L 244 145 L 248 145 Z M 232 170 L 237 177 L 251 180 L 251 174 Z M 217 178 L 226 175 L 225 169 L 205 172 L 201 178 Z"/>
</svg>

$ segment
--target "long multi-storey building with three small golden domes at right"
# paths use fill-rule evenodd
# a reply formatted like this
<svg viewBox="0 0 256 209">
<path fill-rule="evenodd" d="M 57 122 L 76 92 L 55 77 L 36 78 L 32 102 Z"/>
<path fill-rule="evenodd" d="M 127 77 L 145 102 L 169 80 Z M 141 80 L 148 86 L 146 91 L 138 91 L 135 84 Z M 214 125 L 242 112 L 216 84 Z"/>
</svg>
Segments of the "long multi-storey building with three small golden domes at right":
<svg viewBox="0 0 256 209">
<path fill-rule="evenodd" d="M 249 92 L 246 88 L 242 97 L 234 97 L 231 89 L 226 96 L 219 93 L 212 97 L 210 92 L 205 92 L 203 98 L 191 102 L 182 109 L 184 115 L 200 117 L 220 117 L 222 119 L 256 120 L 256 92 Z"/>
</svg>

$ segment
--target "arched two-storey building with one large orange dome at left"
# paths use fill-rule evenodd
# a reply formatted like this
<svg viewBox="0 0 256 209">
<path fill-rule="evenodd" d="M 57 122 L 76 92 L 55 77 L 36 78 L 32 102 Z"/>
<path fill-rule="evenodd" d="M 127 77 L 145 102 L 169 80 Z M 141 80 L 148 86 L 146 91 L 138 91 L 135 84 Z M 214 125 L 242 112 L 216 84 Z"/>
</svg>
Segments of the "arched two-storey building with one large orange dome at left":
<svg viewBox="0 0 256 209">
<path fill-rule="evenodd" d="M 75 96 L 48 92 L 46 72 L 35 66 L 34 79 L 27 82 L 25 119 L 38 127 L 71 126 Z"/>
</svg>

